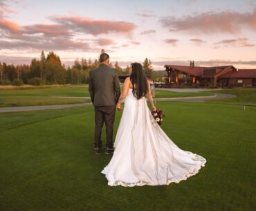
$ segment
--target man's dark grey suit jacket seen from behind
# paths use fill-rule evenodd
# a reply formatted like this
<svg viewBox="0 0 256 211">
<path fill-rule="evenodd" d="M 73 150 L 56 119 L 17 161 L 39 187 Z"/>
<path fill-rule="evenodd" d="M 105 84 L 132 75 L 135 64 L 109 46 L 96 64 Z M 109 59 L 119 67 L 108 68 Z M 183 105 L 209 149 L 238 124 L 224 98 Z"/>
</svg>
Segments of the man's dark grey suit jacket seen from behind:
<svg viewBox="0 0 256 211">
<path fill-rule="evenodd" d="M 120 85 L 116 71 L 100 64 L 89 73 L 89 93 L 94 106 L 116 105 L 120 96 Z"/>
</svg>

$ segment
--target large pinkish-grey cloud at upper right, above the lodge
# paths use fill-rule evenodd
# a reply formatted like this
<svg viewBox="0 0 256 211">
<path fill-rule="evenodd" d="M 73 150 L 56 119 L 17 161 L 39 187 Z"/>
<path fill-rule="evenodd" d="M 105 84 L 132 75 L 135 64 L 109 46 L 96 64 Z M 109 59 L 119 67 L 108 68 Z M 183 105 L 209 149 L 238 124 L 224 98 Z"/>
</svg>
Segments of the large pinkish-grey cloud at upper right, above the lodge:
<svg viewBox="0 0 256 211">
<path fill-rule="evenodd" d="M 252 13 L 204 12 L 180 18 L 163 17 L 160 21 L 170 31 L 237 34 L 244 27 L 256 31 L 256 8 Z"/>
</svg>

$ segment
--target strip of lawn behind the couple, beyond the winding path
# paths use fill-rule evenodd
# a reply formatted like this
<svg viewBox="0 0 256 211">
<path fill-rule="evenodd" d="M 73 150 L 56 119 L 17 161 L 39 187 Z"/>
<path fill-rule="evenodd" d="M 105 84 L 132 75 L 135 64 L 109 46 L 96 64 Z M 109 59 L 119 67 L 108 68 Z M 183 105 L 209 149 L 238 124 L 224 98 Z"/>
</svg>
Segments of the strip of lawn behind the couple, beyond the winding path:
<svg viewBox="0 0 256 211">
<path fill-rule="evenodd" d="M 177 93 L 174 91 L 156 91 L 156 98 L 182 98 L 213 95 L 214 93 Z M 54 98 L 55 97 L 55 98 Z M 60 98 L 77 97 L 77 98 Z M 80 86 L 28 86 L 16 89 L 0 89 L 0 107 L 22 107 L 50 104 L 74 104 L 90 102 L 80 97 L 89 97 L 88 85 Z"/>
</svg>

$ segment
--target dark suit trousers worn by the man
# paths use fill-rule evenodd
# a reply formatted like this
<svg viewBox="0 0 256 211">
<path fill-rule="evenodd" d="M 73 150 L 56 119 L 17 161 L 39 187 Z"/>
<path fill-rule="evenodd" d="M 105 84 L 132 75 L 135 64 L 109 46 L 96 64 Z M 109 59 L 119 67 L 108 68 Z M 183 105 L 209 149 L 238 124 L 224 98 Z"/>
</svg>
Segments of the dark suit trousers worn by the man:
<svg viewBox="0 0 256 211">
<path fill-rule="evenodd" d="M 95 106 L 95 133 L 94 147 L 101 147 L 102 127 L 105 123 L 106 127 L 106 146 L 113 148 L 113 123 L 115 122 L 116 106 Z"/>
</svg>

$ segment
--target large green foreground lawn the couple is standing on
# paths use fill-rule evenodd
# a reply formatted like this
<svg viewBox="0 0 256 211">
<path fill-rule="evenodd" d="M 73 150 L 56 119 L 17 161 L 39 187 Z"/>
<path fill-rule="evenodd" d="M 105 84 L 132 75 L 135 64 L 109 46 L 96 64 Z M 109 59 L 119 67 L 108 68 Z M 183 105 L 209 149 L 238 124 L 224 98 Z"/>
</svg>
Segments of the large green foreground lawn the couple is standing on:
<svg viewBox="0 0 256 211">
<path fill-rule="evenodd" d="M 179 184 L 109 187 L 100 172 L 111 156 L 93 153 L 93 107 L 0 113 L 0 210 L 255 210 L 256 107 L 158 106 L 174 143 L 207 159 Z"/>
</svg>

